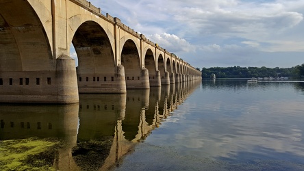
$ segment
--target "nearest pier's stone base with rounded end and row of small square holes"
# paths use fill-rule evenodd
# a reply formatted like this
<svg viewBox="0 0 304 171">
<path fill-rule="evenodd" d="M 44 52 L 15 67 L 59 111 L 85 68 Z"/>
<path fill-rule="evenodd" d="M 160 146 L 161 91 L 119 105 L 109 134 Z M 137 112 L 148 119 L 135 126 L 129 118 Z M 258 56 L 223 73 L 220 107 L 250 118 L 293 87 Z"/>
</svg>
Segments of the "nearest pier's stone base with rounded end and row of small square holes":
<svg viewBox="0 0 304 171">
<path fill-rule="evenodd" d="M 0 72 L 2 103 L 78 103 L 75 61 L 58 57 L 55 70 Z"/>
</svg>

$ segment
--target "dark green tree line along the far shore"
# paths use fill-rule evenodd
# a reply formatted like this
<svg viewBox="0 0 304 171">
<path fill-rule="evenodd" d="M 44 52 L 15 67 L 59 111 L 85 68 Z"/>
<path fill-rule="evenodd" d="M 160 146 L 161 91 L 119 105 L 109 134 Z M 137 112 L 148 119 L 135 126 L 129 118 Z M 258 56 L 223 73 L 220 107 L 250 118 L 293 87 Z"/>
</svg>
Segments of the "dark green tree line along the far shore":
<svg viewBox="0 0 304 171">
<path fill-rule="evenodd" d="M 197 68 L 199 70 L 199 68 Z M 202 77 L 209 79 L 212 74 L 216 78 L 251 78 L 251 77 L 301 77 L 304 75 L 304 64 L 292 68 L 262 67 L 212 67 L 202 68 Z"/>
</svg>

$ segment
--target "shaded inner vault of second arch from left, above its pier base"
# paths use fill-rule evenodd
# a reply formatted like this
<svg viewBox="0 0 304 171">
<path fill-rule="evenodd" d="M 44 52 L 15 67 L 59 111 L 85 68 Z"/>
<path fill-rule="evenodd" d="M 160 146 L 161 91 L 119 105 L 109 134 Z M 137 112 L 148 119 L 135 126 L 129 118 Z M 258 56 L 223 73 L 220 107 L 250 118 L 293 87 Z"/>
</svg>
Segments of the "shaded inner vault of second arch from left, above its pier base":
<svg viewBox="0 0 304 171">
<path fill-rule="evenodd" d="M 107 34 L 98 23 L 81 24 L 72 43 L 78 58 L 77 74 L 113 74 L 114 53 Z"/>
</svg>

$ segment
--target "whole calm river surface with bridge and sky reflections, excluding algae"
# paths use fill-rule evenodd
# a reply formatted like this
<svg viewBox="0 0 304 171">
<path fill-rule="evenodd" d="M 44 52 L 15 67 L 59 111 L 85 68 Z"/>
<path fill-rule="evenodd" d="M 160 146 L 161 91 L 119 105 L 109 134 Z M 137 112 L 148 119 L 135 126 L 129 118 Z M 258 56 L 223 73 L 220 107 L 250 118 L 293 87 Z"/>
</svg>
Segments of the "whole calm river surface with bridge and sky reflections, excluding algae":
<svg viewBox="0 0 304 171">
<path fill-rule="evenodd" d="M 0 140 L 55 137 L 64 144 L 51 155 L 58 170 L 304 170 L 304 82 L 203 81 L 79 98 L 0 105 Z"/>
</svg>

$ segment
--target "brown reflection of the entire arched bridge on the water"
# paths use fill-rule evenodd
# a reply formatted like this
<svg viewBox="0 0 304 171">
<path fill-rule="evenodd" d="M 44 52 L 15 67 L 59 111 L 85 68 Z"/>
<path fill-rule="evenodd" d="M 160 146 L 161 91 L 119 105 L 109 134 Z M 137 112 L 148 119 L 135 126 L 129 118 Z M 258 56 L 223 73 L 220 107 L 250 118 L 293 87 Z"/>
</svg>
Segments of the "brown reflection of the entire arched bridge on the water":
<svg viewBox="0 0 304 171">
<path fill-rule="evenodd" d="M 0 105 L 0 140 L 58 137 L 56 170 L 107 170 L 160 127 L 199 81 L 128 90 L 127 94 L 79 94 L 73 105 Z"/>
</svg>

